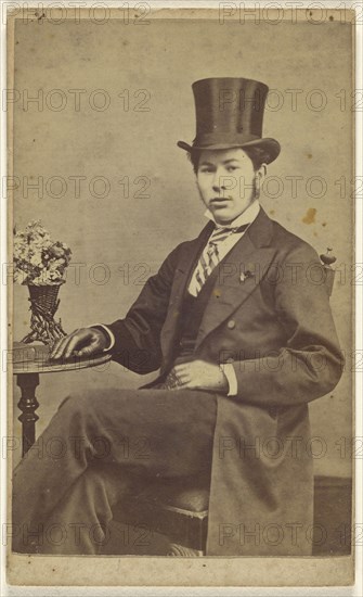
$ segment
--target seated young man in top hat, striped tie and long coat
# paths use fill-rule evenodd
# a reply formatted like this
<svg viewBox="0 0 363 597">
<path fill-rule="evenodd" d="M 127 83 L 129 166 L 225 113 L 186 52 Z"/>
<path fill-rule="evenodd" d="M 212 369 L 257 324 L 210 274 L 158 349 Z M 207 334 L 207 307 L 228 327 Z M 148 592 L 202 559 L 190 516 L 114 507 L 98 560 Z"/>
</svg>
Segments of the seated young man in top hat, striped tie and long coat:
<svg viewBox="0 0 363 597">
<path fill-rule="evenodd" d="M 324 271 L 258 202 L 280 153 L 262 138 L 267 86 L 213 78 L 193 91 L 196 138 L 178 144 L 210 221 L 168 255 L 125 319 L 76 330 L 52 354 L 108 350 L 132 371 L 159 376 L 137 391 L 63 402 L 42 441 L 62 437 L 64 457 L 30 450 L 14 472 L 15 550 L 95 554 L 90 530 L 102 536 L 112 507 L 140 482 L 204 475 L 207 555 L 311 552 L 308 403 L 341 372 Z M 141 436 L 147 457 L 125 458 L 122 439 Z M 50 541 L 57 524 L 66 538 Z"/>
</svg>

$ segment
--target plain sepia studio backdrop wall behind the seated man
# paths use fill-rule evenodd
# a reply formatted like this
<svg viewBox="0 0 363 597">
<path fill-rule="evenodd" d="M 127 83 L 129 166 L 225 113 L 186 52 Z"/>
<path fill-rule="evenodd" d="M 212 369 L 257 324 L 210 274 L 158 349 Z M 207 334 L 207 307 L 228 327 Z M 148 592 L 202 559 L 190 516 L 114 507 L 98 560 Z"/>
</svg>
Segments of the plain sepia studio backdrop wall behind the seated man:
<svg viewBox="0 0 363 597">
<path fill-rule="evenodd" d="M 124 317 L 167 254 L 206 223 L 192 166 L 177 147 L 195 136 L 192 82 L 246 77 L 270 87 L 263 135 L 277 139 L 282 152 L 268 169 L 261 204 L 319 254 L 332 246 L 337 257 L 332 309 L 346 372 L 310 414 L 315 473 L 346 478 L 354 283 L 351 35 L 348 24 L 334 21 L 18 20 L 13 106 L 14 224 L 40 218 L 52 238 L 70 246 L 57 317 L 72 332 Z M 14 285 L 17 341 L 29 329 L 27 298 L 27 288 Z M 37 432 L 74 389 L 137 388 L 153 377 L 114 363 L 43 374 Z M 18 397 L 16 389 L 15 403 Z"/>
</svg>

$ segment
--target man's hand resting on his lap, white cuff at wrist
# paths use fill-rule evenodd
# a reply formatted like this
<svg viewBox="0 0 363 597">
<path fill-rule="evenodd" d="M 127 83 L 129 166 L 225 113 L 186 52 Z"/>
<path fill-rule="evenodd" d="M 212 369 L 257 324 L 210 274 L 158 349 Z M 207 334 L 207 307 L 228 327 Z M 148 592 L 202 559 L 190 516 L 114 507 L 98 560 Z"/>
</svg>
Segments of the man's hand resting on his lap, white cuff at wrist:
<svg viewBox="0 0 363 597">
<path fill-rule="evenodd" d="M 206 360 L 181 363 L 172 368 L 172 372 L 177 376 L 178 388 L 183 390 L 212 390 L 222 393 L 229 391 L 224 373 L 218 365 Z"/>
</svg>

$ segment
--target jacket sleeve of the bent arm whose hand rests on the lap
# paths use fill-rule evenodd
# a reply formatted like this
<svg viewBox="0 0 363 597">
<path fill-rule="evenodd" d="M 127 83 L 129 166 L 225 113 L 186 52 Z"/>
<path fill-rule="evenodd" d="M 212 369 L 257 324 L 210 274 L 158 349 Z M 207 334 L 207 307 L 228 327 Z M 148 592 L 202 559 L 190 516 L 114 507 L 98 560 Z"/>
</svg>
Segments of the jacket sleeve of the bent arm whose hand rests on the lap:
<svg viewBox="0 0 363 597">
<path fill-rule="evenodd" d="M 285 345 L 264 356 L 233 364 L 235 399 L 265 406 L 314 401 L 338 383 L 343 365 L 324 269 L 308 244 L 289 252 L 275 282 L 275 310 Z"/>
</svg>

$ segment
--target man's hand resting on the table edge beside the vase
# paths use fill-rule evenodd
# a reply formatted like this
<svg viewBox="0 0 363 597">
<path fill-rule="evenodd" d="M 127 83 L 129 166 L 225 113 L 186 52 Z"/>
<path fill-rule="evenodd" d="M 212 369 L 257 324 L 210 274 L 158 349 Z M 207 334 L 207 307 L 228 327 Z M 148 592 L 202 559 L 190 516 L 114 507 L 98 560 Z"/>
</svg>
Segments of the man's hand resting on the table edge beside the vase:
<svg viewBox="0 0 363 597">
<path fill-rule="evenodd" d="M 62 338 L 52 348 L 50 359 L 91 356 L 107 346 L 106 335 L 96 328 L 80 328 Z"/>
</svg>

